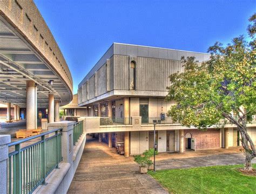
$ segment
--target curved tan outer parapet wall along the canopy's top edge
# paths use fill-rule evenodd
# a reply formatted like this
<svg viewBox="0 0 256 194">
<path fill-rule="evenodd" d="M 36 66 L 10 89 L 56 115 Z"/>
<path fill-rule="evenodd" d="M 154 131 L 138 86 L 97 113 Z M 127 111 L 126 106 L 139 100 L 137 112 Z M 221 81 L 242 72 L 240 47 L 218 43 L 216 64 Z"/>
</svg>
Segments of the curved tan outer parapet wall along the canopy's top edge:
<svg viewBox="0 0 256 194">
<path fill-rule="evenodd" d="M 73 81 L 57 42 L 33 1 L 0 1 L 0 15 L 49 62 L 72 94 Z"/>
</svg>

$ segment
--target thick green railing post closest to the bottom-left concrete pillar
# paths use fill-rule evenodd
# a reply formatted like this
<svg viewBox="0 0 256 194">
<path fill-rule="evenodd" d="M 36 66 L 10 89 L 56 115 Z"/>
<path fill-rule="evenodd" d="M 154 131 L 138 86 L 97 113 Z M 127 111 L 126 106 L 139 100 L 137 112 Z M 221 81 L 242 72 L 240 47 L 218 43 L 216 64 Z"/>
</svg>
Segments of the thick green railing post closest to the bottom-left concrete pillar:
<svg viewBox="0 0 256 194">
<path fill-rule="evenodd" d="M 21 176 L 21 145 L 15 145 L 15 193 L 21 193 L 22 191 L 22 176 Z"/>
</svg>

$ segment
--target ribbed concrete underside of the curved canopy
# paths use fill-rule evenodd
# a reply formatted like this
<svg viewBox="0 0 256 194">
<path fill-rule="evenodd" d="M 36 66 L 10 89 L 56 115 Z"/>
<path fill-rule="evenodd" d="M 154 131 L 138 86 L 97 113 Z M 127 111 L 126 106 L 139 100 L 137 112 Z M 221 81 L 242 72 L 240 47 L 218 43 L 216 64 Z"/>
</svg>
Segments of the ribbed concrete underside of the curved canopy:
<svg viewBox="0 0 256 194">
<path fill-rule="evenodd" d="M 0 17 L 0 102 L 26 106 L 26 81 L 37 83 L 38 107 L 48 107 L 49 93 L 61 105 L 72 98 L 68 87 L 29 43 Z M 53 80 L 50 85 L 49 80 Z"/>
</svg>

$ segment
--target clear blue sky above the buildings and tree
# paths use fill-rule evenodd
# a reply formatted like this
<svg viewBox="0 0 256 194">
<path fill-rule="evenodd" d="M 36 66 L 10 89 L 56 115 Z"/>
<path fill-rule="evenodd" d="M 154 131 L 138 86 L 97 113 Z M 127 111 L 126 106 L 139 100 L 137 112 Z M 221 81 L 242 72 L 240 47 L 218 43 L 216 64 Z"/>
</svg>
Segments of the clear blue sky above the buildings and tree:
<svg viewBox="0 0 256 194">
<path fill-rule="evenodd" d="M 73 77 L 73 92 L 113 42 L 206 52 L 246 34 L 256 0 L 34 0 Z"/>
</svg>

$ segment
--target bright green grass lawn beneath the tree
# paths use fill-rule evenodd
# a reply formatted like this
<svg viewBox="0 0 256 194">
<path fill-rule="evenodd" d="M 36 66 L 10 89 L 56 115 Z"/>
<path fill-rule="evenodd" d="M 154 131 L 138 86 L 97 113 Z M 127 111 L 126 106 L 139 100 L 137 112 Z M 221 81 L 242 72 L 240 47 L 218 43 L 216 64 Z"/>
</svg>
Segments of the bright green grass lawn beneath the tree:
<svg viewBox="0 0 256 194">
<path fill-rule="evenodd" d="M 238 167 L 242 166 L 158 170 L 149 174 L 173 193 L 256 193 L 256 177 L 242 175 Z"/>
</svg>

